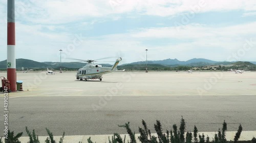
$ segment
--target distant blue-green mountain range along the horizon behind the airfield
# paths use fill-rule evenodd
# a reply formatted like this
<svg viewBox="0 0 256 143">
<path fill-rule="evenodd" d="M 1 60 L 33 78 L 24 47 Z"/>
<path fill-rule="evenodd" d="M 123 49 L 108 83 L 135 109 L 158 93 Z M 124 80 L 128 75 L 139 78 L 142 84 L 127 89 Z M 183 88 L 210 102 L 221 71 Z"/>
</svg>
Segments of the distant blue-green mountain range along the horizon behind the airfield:
<svg viewBox="0 0 256 143">
<path fill-rule="evenodd" d="M 6 60 L 0 62 L 0 69 L 5 69 L 6 68 Z M 130 64 L 123 64 L 119 65 L 118 67 L 127 67 L 127 65 L 144 65 L 146 64 L 145 61 L 141 62 L 134 62 Z M 217 62 L 217 61 L 211 61 L 207 59 L 191 59 L 188 61 L 179 61 L 177 59 L 166 59 L 166 60 L 160 60 L 160 61 L 147 61 L 148 65 L 161 65 L 165 67 L 176 67 L 176 66 L 209 66 L 209 65 L 239 65 L 239 64 L 246 64 L 246 65 L 254 65 L 256 62 Z M 79 63 L 79 62 L 62 62 L 61 67 L 62 68 L 81 68 L 83 67 L 84 63 Z M 111 67 L 112 65 L 110 64 L 99 64 L 104 67 Z M 21 69 L 22 67 L 24 68 L 53 68 L 53 69 L 58 69 L 60 68 L 60 62 L 36 62 L 32 60 L 27 60 L 27 59 L 16 59 L 16 68 Z M 128 66 L 129 67 L 129 66 Z"/>
</svg>

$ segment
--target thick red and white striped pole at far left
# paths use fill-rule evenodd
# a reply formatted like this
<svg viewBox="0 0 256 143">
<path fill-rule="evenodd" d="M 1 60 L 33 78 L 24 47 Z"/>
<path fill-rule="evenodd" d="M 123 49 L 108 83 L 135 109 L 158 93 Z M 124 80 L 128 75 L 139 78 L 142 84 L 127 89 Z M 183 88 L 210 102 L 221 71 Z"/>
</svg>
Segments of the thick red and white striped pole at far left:
<svg viewBox="0 0 256 143">
<path fill-rule="evenodd" d="M 16 52 L 15 52 L 15 2 L 7 3 L 7 79 L 12 92 L 16 92 Z"/>
</svg>

